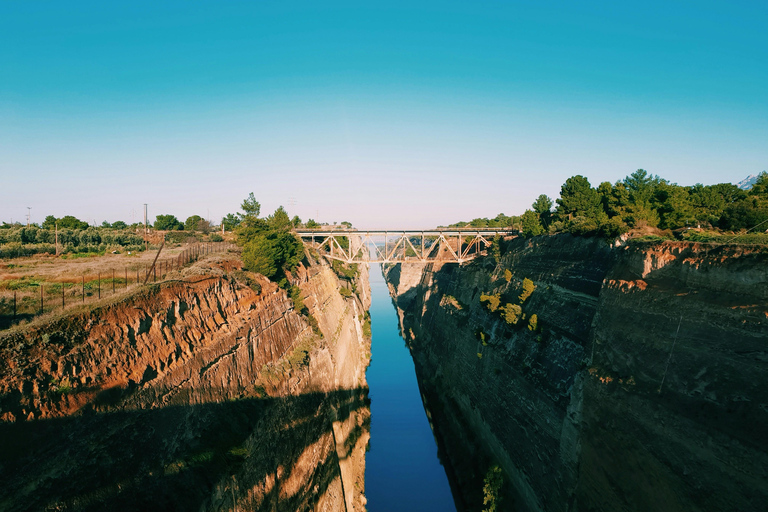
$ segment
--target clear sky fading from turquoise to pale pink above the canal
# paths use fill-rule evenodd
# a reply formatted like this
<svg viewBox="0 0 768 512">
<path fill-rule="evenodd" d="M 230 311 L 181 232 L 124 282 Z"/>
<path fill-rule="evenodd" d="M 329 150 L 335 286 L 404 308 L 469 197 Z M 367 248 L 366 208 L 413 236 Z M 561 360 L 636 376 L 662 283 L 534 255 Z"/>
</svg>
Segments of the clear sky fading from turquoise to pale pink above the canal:
<svg viewBox="0 0 768 512">
<path fill-rule="evenodd" d="M 418 229 L 576 174 L 738 182 L 767 64 L 762 0 L 1 2 L 0 221 L 217 223 L 254 192 Z"/>
</svg>

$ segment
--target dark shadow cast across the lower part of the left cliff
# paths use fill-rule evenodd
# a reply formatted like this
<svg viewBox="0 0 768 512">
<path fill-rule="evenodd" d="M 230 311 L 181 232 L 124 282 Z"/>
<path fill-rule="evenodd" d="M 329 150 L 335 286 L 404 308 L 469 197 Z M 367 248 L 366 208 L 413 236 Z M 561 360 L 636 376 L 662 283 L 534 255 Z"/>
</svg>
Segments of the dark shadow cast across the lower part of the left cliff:
<svg viewBox="0 0 768 512">
<path fill-rule="evenodd" d="M 0 509 L 304 508 L 340 474 L 333 421 L 369 403 L 357 388 L 1 423 Z"/>
</svg>

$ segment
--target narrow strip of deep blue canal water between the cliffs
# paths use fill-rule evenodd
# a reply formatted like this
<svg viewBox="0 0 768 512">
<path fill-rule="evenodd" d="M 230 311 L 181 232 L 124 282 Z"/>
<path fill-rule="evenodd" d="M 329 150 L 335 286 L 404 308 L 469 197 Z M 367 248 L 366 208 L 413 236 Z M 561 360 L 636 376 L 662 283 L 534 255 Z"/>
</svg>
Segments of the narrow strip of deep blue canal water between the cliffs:
<svg viewBox="0 0 768 512">
<path fill-rule="evenodd" d="M 456 510 L 429 428 L 413 360 L 398 333 L 397 313 L 371 266 L 371 441 L 365 459 L 369 512 Z"/>
</svg>

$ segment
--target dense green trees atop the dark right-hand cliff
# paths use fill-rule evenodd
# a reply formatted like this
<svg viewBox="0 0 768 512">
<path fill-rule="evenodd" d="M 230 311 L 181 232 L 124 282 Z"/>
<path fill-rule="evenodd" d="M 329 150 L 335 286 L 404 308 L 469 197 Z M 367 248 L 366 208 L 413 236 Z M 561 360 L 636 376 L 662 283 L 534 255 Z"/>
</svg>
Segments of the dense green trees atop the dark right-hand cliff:
<svg viewBox="0 0 768 512">
<path fill-rule="evenodd" d="M 596 188 L 577 175 L 566 180 L 555 202 L 540 195 L 532 209 L 523 213 L 520 224 L 525 235 L 570 232 L 607 237 L 643 226 L 664 230 L 768 228 L 768 173 L 761 173 L 749 191 L 731 183 L 681 186 L 643 169 Z"/>
</svg>

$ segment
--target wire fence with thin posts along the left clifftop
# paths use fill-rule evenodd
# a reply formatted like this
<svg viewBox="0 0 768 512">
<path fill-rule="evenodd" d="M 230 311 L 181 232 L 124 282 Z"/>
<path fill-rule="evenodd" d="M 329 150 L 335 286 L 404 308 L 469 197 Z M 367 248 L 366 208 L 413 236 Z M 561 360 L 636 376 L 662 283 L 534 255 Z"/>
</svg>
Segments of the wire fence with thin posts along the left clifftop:
<svg viewBox="0 0 768 512">
<path fill-rule="evenodd" d="M 28 281 L 23 290 L 7 290 L 0 297 L 0 329 L 7 329 L 23 320 L 67 306 L 97 301 L 124 292 L 129 288 L 157 282 L 173 271 L 197 261 L 202 256 L 226 252 L 235 245 L 228 242 L 192 244 L 177 256 L 158 258 L 154 264 L 129 265 L 112 268 L 95 275 L 59 277 L 55 282 Z M 36 290 L 39 288 L 39 292 Z M 34 291 L 33 291 L 34 290 Z"/>
</svg>

